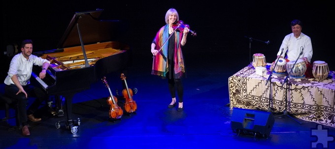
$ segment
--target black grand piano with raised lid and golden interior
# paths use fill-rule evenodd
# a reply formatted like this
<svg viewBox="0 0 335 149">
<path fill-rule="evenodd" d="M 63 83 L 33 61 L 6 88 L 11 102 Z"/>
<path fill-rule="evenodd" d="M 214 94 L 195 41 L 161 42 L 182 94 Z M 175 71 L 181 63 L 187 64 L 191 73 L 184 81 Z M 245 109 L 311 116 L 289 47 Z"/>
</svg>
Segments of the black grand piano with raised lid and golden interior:
<svg viewBox="0 0 335 149">
<path fill-rule="evenodd" d="M 65 97 L 67 124 L 71 124 L 72 97 L 111 72 L 122 73 L 131 65 L 130 47 L 116 41 L 121 21 L 99 20 L 103 10 L 76 12 L 57 49 L 34 55 L 50 61 L 47 75 L 38 78 L 40 67 L 33 67 L 32 78 L 49 95 Z M 73 132 L 72 132 L 73 133 Z"/>
</svg>

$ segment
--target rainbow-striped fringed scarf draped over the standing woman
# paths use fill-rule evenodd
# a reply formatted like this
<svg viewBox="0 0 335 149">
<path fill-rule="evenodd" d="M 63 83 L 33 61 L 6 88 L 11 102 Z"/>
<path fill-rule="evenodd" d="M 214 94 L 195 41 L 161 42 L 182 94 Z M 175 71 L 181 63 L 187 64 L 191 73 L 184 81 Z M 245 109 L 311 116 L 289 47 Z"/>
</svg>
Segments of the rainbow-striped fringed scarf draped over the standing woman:
<svg viewBox="0 0 335 149">
<path fill-rule="evenodd" d="M 174 78 L 180 78 L 185 73 L 185 65 L 183 54 L 181 52 L 181 39 L 182 33 L 175 31 L 175 42 L 174 42 Z M 162 27 L 155 36 L 156 50 L 161 49 L 164 42 L 164 47 L 161 51 L 154 57 L 152 62 L 151 74 L 166 77 L 168 71 L 167 64 L 167 51 L 168 51 L 168 25 Z"/>
</svg>

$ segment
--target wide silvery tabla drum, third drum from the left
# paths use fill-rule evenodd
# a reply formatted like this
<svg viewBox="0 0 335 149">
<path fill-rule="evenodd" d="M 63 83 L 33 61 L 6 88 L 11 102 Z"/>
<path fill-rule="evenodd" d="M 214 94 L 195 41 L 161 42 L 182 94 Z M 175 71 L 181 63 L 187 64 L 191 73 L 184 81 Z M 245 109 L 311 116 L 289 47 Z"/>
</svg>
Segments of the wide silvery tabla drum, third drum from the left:
<svg viewBox="0 0 335 149">
<path fill-rule="evenodd" d="M 294 63 L 296 64 L 294 65 Z M 297 62 L 296 60 L 286 62 L 286 70 L 290 78 L 304 79 L 306 69 L 306 63 L 302 59 L 297 60 Z"/>
</svg>

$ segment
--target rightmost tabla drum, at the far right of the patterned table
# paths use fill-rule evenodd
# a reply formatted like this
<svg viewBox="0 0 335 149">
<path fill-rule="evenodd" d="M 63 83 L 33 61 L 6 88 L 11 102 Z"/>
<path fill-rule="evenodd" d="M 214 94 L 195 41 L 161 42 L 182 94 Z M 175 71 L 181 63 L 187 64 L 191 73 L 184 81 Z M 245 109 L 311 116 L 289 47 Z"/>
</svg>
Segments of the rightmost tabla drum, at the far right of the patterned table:
<svg viewBox="0 0 335 149">
<path fill-rule="evenodd" d="M 317 60 L 313 62 L 313 76 L 318 80 L 325 80 L 329 74 L 329 67 L 325 61 Z"/>
</svg>

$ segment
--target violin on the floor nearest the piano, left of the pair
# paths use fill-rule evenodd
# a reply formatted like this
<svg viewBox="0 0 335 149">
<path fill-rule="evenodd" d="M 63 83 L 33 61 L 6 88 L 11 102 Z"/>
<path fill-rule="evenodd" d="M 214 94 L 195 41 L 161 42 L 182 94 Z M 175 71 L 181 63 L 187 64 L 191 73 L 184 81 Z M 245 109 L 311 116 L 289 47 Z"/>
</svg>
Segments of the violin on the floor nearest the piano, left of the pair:
<svg viewBox="0 0 335 149">
<path fill-rule="evenodd" d="M 113 96 L 112 91 L 110 90 L 106 77 L 103 77 L 102 82 L 108 88 L 110 96 L 107 98 L 107 104 L 109 105 L 109 118 L 120 119 L 123 115 L 123 110 L 117 105 L 117 98 Z"/>
</svg>

